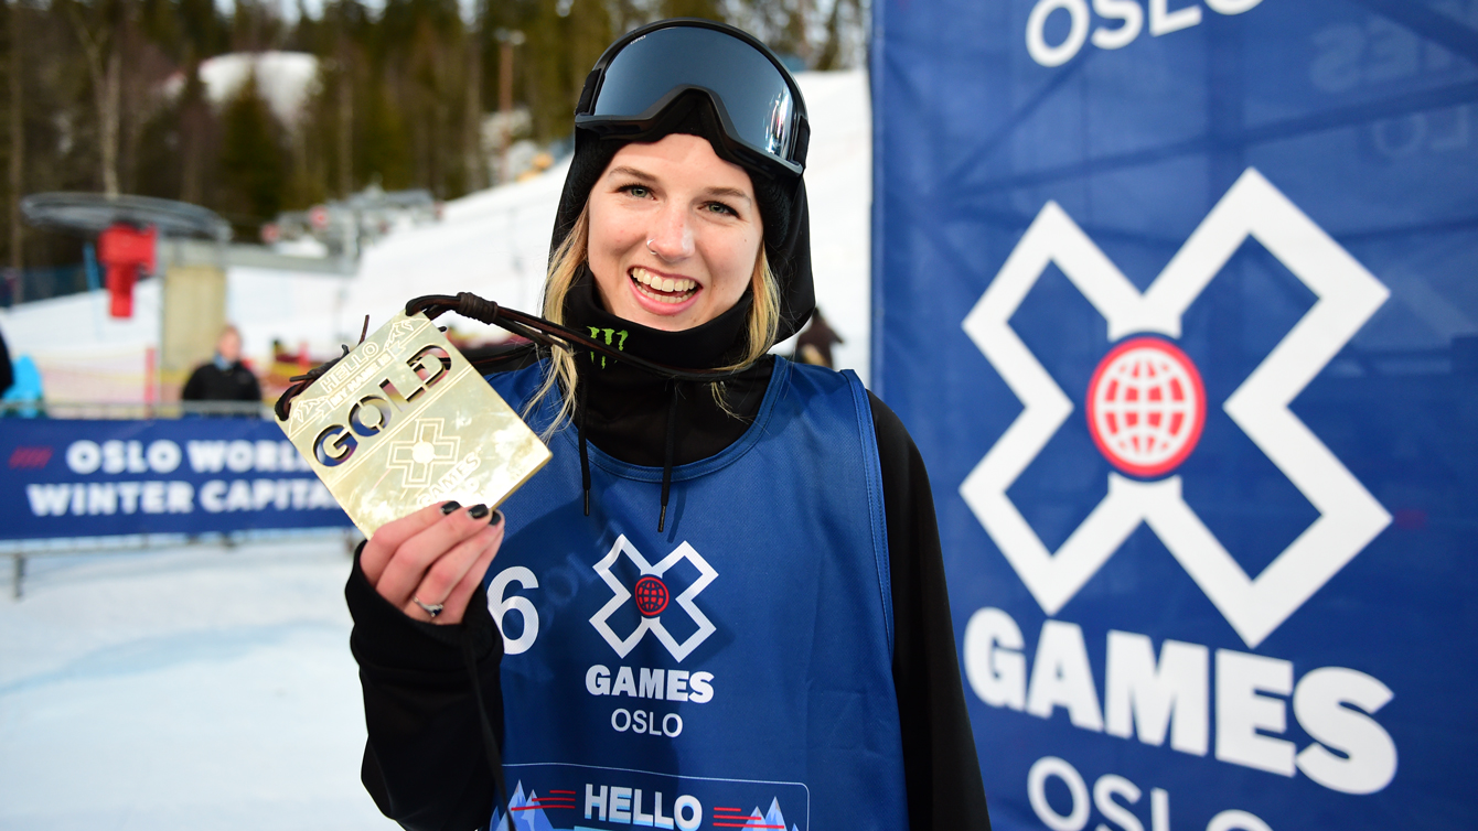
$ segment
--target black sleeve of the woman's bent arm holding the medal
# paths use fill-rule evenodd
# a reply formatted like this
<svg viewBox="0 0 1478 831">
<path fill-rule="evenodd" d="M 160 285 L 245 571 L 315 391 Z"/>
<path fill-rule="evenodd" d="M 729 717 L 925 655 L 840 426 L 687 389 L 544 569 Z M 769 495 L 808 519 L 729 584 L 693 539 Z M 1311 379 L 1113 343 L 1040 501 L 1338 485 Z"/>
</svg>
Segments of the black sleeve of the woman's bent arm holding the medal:
<svg viewBox="0 0 1478 831">
<path fill-rule="evenodd" d="M 488 722 L 501 742 L 503 638 L 486 593 L 473 593 L 460 624 L 421 623 L 374 590 L 355 555 L 344 598 L 355 618 L 349 646 L 359 661 L 370 734 L 361 768 L 365 790 L 381 813 L 414 831 L 485 827 L 494 781 L 467 663 L 476 663 Z"/>
</svg>

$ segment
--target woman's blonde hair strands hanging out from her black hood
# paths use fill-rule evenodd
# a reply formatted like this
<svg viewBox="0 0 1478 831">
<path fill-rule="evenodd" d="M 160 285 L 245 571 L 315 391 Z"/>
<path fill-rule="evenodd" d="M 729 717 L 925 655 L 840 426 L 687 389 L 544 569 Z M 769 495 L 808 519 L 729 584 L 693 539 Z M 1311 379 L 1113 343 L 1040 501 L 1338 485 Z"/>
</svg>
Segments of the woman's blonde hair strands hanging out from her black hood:
<svg viewBox="0 0 1478 831">
<path fill-rule="evenodd" d="M 575 285 L 575 276 L 579 273 L 579 267 L 585 264 L 587 254 L 590 251 L 590 204 L 579 211 L 579 217 L 575 220 L 575 226 L 565 236 L 565 242 L 559 244 L 554 249 L 554 255 L 550 257 L 548 277 L 544 282 L 544 317 L 565 325 L 565 298 L 569 295 L 569 289 Z M 749 288 L 754 292 L 754 303 L 749 307 L 749 319 L 746 326 L 746 348 L 743 357 L 736 363 L 715 368 L 718 370 L 735 370 L 743 369 L 754 362 L 760 360 L 770 351 L 774 345 L 776 332 L 780 328 L 780 288 L 774 277 L 774 272 L 770 270 L 770 261 L 764 255 L 764 244 L 760 244 L 760 254 L 754 260 L 754 273 L 749 277 Z M 534 409 L 538 407 L 539 401 L 545 396 L 554 391 L 556 387 L 563 393 L 563 400 L 560 401 L 559 413 L 556 413 L 554 421 L 544 431 L 544 440 L 548 440 L 575 412 L 576 400 L 576 385 L 579 379 L 575 373 L 575 353 L 568 348 L 554 348 L 550 354 L 550 370 L 544 376 L 544 384 L 538 388 L 534 397 L 529 400 L 525 409 L 525 418 Z M 724 400 L 723 381 L 714 381 L 709 385 L 714 396 L 714 401 L 729 412 L 729 404 Z"/>
</svg>

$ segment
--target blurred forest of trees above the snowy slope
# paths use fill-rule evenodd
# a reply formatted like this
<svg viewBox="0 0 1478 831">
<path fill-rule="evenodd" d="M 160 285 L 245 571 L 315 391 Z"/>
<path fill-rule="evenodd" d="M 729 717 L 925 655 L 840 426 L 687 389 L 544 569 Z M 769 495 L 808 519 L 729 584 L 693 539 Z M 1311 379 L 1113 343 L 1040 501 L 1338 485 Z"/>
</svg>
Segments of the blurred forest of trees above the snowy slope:
<svg viewBox="0 0 1478 831">
<path fill-rule="evenodd" d="M 467 19 L 460 0 L 294 1 L 297 19 L 282 18 L 281 0 L 0 0 L 3 204 L 15 205 L 22 190 L 111 186 L 216 208 L 254 239 L 256 226 L 281 210 L 371 183 L 455 198 L 488 182 L 480 130 L 503 90 L 498 30 L 525 34 L 513 50 L 513 106 L 528 108 L 535 140 L 560 142 L 591 65 L 633 27 L 665 16 L 727 19 L 831 68 L 856 59 L 868 7 L 862 0 L 479 0 Z M 9 49 L 12 18 L 25 30 L 21 61 Z M 825 40 L 807 43 L 807 21 L 825 22 Z M 316 87 L 291 130 L 256 83 L 217 106 L 198 72 L 231 50 L 266 49 L 319 59 Z M 185 83 L 161 96 L 170 75 Z M 24 162 L 19 183 L 12 158 Z M 28 227 L 16 235 L 12 213 L 0 211 L 0 266 L 15 261 L 18 241 L 27 266 L 77 261 L 75 241 Z"/>
</svg>

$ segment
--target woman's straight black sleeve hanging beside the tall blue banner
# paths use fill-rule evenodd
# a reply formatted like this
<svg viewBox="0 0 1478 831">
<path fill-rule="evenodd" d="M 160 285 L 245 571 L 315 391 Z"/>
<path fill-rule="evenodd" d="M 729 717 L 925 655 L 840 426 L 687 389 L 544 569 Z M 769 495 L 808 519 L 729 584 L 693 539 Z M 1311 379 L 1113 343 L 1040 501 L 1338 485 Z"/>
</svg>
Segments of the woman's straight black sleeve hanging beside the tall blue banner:
<svg viewBox="0 0 1478 831">
<path fill-rule="evenodd" d="M 924 458 L 871 393 L 893 583 L 893 683 L 912 831 L 989 831 L 975 738 L 955 655 L 944 556 Z"/>
</svg>

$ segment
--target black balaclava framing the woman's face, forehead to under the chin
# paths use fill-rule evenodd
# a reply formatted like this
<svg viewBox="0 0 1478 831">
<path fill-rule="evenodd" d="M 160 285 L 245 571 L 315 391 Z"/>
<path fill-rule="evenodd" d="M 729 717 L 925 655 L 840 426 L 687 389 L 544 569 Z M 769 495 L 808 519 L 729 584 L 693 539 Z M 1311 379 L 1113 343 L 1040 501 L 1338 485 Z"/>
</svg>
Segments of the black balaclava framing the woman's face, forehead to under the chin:
<svg viewBox="0 0 1478 831">
<path fill-rule="evenodd" d="M 811 282 L 810 215 L 806 207 L 806 183 L 803 179 L 774 176 L 729 154 L 715 137 L 720 134 L 718 117 L 704 93 L 687 93 L 675 99 L 658 118 L 652 128 L 637 136 L 600 139 L 584 130 L 575 131 L 575 156 L 565 176 L 565 190 L 560 193 L 559 213 L 554 215 L 554 236 L 550 252 L 569 236 L 571 229 L 585 208 L 591 189 L 610 165 L 616 152 L 631 142 L 656 142 L 672 133 L 684 133 L 708 139 L 714 152 L 745 168 L 754 186 L 760 218 L 764 223 L 764 252 L 780 291 L 780 323 L 776 341 L 783 341 L 798 332 L 816 307 L 816 291 Z M 625 350 L 684 369 L 711 369 L 732 363 L 743 348 L 745 322 L 748 319 L 751 292 L 714 320 L 680 332 L 664 332 L 616 317 L 602 307 L 588 269 L 576 277 L 565 301 L 565 323 L 597 329 L 622 329 L 628 332 Z"/>
</svg>

